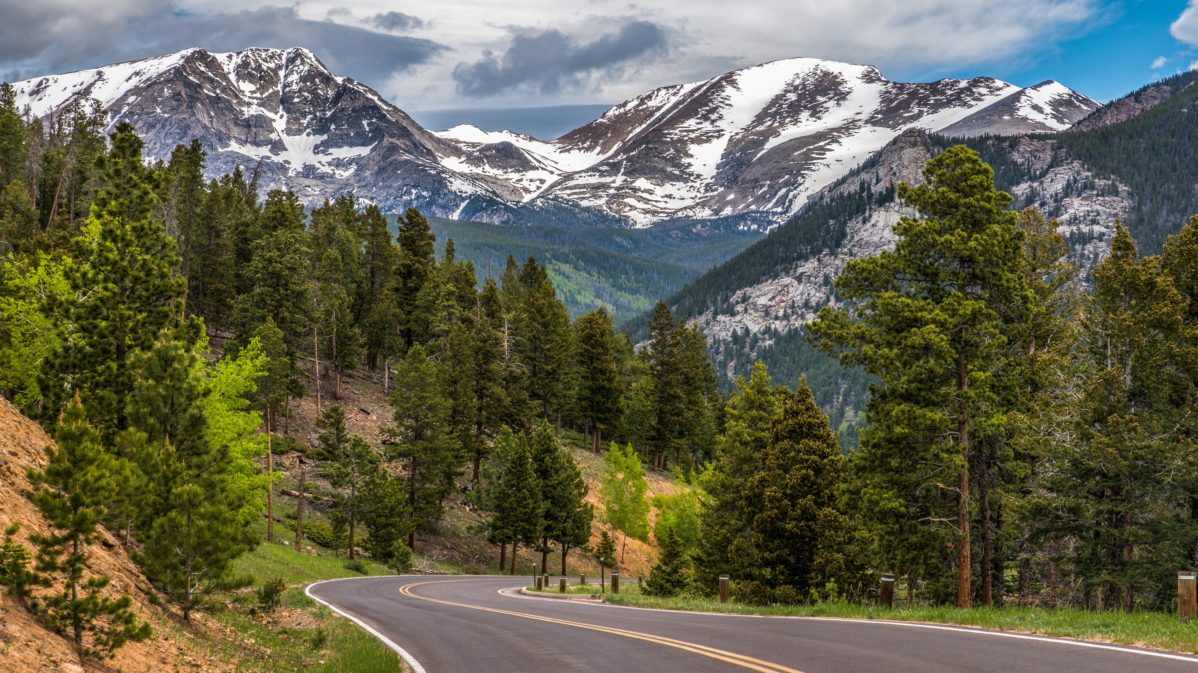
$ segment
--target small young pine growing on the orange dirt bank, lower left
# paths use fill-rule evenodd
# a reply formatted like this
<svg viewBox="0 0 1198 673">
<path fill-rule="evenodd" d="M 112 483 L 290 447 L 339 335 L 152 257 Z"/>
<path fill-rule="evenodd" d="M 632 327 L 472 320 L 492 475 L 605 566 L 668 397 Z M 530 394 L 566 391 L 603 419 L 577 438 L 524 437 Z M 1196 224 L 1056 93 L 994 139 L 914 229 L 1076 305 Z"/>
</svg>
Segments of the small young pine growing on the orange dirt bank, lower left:
<svg viewBox="0 0 1198 673">
<path fill-rule="evenodd" d="M 53 529 L 48 535 L 30 535 L 30 541 L 37 545 L 35 570 L 66 580 L 62 593 L 36 606 L 46 613 L 46 626 L 56 632 L 69 630 L 80 647 L 84 633 L 90 632 L 92 644 L 84 653 L 104 657 L 127 641 L 150 637 L 151 630 L 129 612 L 129 596 L 114 600 L 101 594 L 111 578 L 92 575 L 85 580 L 86 546 L 96 539 L 103 503 L 116 489 L 111 473 L 121 461 L 103 449 L 99 433 L 84 414 L 77 395 L 59 420 L 55 445 L 46 448 L 49 465 L 28 473 L 37 489 L 30 499 Z"/>
</svg>

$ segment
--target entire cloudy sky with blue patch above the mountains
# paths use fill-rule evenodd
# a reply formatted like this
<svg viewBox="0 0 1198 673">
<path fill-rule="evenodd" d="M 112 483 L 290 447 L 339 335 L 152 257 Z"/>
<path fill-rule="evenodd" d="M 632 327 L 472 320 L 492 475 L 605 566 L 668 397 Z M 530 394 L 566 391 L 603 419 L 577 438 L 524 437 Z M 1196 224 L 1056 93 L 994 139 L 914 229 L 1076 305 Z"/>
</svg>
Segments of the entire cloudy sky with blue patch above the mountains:
<svg viewBox="0 0 1198 673">
<path fill-rule="evenodd" d="M 586 117 L 791 56 L 871 63 L 894 80 L 1057 79 L 1100 101 L 1198 66 L 1198 0 L 0 0 L 0 11 L 10 81 L 188 47 L 298 46 L 447 120 L 541 107 Z"/>
</svg>

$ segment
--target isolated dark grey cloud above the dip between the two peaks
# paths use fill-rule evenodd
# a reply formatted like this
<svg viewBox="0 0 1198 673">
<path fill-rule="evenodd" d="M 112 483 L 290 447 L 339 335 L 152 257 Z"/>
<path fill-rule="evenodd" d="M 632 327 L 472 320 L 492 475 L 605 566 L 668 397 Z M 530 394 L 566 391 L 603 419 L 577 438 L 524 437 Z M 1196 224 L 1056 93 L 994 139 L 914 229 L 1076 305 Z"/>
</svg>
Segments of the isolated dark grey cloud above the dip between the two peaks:
<svg viewBox="0 0 1198 673">
<path fill-rule="evenodd" d="M 473 63 L 453 71 L 458 92 L 483 97 L 509 90 L 556 93 L 585 85 L 594 77 L 615 78 L 631 62 L 661 55 L 666 37 L 649 22 L 635 22 L 616 34 L 605 34 L 588 44 L 577 44 L 557 30 L 521 34 L 501 56 L 484 51 Z"/>
</svg>

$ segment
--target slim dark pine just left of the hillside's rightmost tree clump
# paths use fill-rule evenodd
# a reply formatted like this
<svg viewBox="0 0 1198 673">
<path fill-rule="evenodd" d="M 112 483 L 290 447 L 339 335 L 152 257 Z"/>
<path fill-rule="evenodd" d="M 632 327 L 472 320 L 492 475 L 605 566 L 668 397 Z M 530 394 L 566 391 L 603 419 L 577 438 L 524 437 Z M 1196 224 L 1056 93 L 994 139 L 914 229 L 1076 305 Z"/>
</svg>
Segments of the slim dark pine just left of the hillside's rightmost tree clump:
<svg viewBox="0 0 1198 673">
<path fill-rule="evenodd" d="M 599 453 L 603 430 L 615 432 L 624 416 L 624 384 L 616 368 L 615 332 L 607 309 L 600 307 L 575 322 L 577 331 L 579 414 L 594 425 L 592 450 Z"/>
</svg>

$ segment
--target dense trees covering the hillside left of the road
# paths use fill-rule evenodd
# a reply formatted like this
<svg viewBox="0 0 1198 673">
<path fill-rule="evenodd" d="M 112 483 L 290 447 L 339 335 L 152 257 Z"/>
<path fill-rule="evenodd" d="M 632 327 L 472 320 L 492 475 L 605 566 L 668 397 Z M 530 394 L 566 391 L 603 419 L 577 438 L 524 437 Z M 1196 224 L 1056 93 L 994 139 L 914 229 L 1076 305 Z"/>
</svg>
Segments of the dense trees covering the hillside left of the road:
<svg viewBox="0 0 1198 673">
<path fill-rule="evenodd" d="M 491 514 L 513 559 L 519 545 L 546 558 L 561 550 L 564 563 L 586 545 L 592 511 L 563 424 L 597 453 L 623 439 L 658 469 L 692 473 L 712 455 L 721 400 L 706 341 L 664 304 L 653 347 L 634 352 L 605 308 L 571 320 L 533 257 L 508 257 L 482 280 L 453 241 L 437 257 L 415 210 L 393 234 L 352 195 L 308 212 L 290 192 L 260 198 L 240 168 L 206 181 L 199 143 L 147 164 L 134 128 L 120 123 L 105 140 L 98 113 L 53 132 L 11 104 L 4 115 L 0 126 L 19 132 L 5 146 L 24 154 L 2 169 L 2 387 L 59 437 L 52 465 L 68 462 L 30 475 L 47 485 L 44 519 L 66 532 L 35 540 L 44 548 L 31 570 L 23 548 L 5 552 L 5 583 L 77 642 L 110 650 L 146 635 L 127 601 L 105 602 L 105 581 L 79 570 L 101 523 L 137 542 L 134 560 L 184 618 L 252 581 L 232 562 L 259 544 L 264 509 L 274 535 L 272 443 L 311 392 L 322 435 L 295 468 L 296 546 L 305 481 L 320 475 L 334 491 L 328 538 L 400 570 L 454 493 Z M 71 145 L 71 133 L 86 141 Z M 44 168 L 49 153 L 85 146 L 90 164 Z M 47 198 L 49 170 L 71 190 Z M 346 430 L 346 371 L 388 393 L 382 445 Z M 86 450 L 67 451 L 72 442 Z M 97 489 L 85 520 L 54 504 L 79 479 Z M 65 593 L 46 598 L 63 569 Z"/>
</svg>

